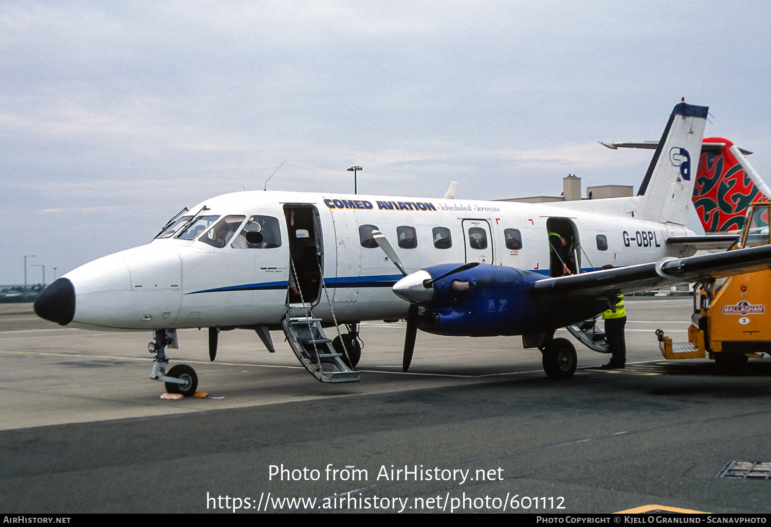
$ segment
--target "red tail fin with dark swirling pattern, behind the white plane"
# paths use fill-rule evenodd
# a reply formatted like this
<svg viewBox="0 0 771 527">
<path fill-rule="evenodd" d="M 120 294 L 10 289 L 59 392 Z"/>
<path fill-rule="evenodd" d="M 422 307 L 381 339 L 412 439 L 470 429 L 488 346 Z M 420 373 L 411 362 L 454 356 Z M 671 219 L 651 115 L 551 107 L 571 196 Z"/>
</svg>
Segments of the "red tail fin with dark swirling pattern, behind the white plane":
<svg viewBox="0 0 771 527">
<path fill-rule="evenodd" d="M 749 203 L 769 199 L 771 190 L 739 148 L 722 137 L 704 139 L 693 205 L 706 233 L 742 230 Z"/>
</svg>

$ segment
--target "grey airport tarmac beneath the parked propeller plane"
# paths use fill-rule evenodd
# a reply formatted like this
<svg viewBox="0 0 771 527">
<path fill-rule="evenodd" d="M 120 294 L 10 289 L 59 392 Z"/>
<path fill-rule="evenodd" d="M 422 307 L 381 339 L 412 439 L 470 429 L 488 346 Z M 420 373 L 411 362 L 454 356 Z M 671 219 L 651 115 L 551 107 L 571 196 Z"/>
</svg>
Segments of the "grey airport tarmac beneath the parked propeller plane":
<svg viewBox="0 0 771 527">
<path fill-rule="evenodd" d="M 149 333 L 0 304 L 0 510 L 771 512 L 771 479 L 715 477 L 771 462 L 771 358 L 665 361 L 654 331 L 687 340 L 692 300 L 626 304 L 627 368 L 574 341 L 567 381 L 520 337 L 419 333 L 403 373 L 405 324 L 365 323 L 362 381 L 322 384 L 280 332 L 274 354 L 223 332 L 210 362 L 205 328 L 180 330 L 172 364 L 208 394 L 181 400 L 147 378 Z"/>
</svg>

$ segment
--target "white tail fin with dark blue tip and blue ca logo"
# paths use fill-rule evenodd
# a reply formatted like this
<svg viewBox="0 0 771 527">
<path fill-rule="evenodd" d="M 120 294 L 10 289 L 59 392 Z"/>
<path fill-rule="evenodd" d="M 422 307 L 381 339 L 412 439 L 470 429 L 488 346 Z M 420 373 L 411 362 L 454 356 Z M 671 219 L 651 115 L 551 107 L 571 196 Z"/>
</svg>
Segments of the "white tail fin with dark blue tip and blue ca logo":
<svg viewBox="0 0 771 527">
<path fill-rule="evenodd" d="M 693 157 L 702 149 L 707 106 L 680 102 L 672 115 L 662 139 L 645 173 L 638 196 L 643 201 L 646 220 L 685 225 L 692 206 Z"/>
</svg>

